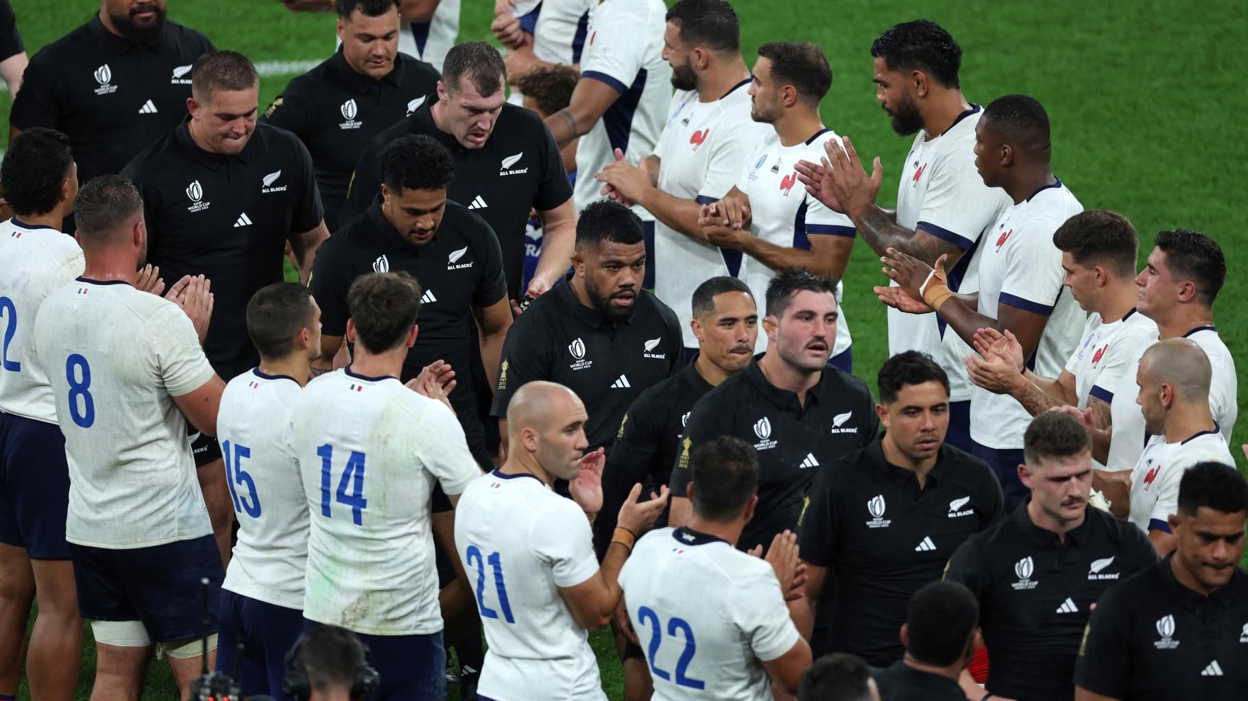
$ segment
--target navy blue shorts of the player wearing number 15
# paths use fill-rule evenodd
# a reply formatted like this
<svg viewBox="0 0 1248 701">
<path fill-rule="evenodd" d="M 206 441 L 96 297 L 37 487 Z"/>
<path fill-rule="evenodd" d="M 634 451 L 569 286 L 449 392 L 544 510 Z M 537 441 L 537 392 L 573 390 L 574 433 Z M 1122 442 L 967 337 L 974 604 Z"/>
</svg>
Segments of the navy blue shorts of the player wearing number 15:
<svg viewBox="0 0 1248 701">
<path fill-rule="evenodd" d="M 286 654 L 303 632 L 303 611 L 222 589 L 217 616 L 217 671 L 233 677 L 246 696 L 281 699 Z"/>
</svg>

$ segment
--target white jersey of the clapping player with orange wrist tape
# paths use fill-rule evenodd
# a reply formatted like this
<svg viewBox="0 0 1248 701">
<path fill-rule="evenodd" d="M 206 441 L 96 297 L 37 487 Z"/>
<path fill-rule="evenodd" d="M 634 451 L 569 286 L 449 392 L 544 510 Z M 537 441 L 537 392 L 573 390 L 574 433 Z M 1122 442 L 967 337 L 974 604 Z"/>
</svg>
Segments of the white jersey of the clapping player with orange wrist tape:
<svg viewBox="0 0 1248 701">
<path fill-rule="evenodd" d="M 1062 181 L 1006 210 L 980 242 L 981 314 L 1000 319 L 1001 306 L 1048 317 L 1028 359 L 1041 377 L 1057 377 L 1080 342 L 1083 309 L 1066 291 L 1062 252 L 1053 232 L 1083 211 Z M 953 334 L 953 329 L 945 332 Z M 1008 394 L 971 385 L 971 438 L 997 450 L 1022 448 L 1031 414 Z"/>
</svg>

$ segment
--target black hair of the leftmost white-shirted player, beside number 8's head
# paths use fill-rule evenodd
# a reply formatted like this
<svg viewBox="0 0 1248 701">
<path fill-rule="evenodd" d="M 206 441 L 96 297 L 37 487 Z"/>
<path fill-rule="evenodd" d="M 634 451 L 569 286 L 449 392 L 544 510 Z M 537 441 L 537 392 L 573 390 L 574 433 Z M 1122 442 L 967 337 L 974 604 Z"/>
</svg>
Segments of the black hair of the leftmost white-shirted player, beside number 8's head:
<svg viewBox="0 0 1248 701">
<path fill-rule="evenodd" d="M 0 163 L 0 185 L 14 213 L 46 215 L 56 208 L 72 165 L 70 137 L 64 133 L 41 126 L 19 133 Z"/>
</svg>

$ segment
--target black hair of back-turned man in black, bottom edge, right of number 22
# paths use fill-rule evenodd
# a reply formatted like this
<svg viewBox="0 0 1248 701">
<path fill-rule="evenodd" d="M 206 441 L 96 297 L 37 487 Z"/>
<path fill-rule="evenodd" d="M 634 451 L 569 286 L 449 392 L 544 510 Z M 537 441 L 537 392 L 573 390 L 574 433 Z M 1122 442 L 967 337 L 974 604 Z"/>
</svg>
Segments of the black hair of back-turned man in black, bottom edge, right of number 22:
<svg viewBox="0 0 1248 701">
<path fill-rule="evenodd" d="M 966 586 L 934 581 L 906 604 L 906 651 L 929 665 L 947 667 L 962 659 L 980 625 L 980 602 Z"/>
</svg>

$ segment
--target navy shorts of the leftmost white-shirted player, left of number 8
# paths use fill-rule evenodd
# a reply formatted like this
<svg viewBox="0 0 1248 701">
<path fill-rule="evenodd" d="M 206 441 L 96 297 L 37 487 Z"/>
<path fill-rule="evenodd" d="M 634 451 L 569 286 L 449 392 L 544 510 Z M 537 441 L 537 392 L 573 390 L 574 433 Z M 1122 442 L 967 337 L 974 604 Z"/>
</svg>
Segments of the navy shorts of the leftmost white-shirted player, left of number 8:
<svg viewBox="0 0 1248 701">
<path fill-rule="evenodd" d="M 0 543 L 34 560 L 69 560 L 70 468 L 56 424 L 0 412 Z"/>
</svg>

